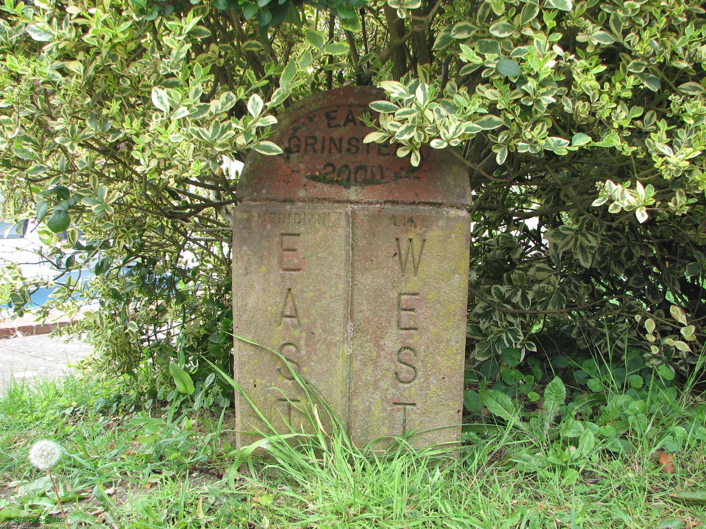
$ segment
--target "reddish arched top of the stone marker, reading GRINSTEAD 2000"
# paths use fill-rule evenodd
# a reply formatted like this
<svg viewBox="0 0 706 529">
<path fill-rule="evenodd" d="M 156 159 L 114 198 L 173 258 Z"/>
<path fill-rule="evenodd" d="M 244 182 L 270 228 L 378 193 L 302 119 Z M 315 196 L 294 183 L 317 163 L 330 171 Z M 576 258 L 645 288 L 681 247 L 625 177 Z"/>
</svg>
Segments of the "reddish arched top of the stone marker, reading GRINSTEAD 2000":
<svg viewBox="0 0 706 529">
<path fill-rule="evenodd" d="M 421 164 L 396 155 L 397 145 L 363 143 L 373 131 L 360 121 L 384 99 L 374 87 L 344 87 L 306 97 L 278 116 L 268 140 L 285 152 L 251 152 L 237 193 L 245 202 L 352 202 L 465 207 L 465 165 L 448 150 L 425 146 Z"/>
</svg>

